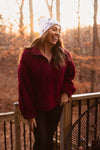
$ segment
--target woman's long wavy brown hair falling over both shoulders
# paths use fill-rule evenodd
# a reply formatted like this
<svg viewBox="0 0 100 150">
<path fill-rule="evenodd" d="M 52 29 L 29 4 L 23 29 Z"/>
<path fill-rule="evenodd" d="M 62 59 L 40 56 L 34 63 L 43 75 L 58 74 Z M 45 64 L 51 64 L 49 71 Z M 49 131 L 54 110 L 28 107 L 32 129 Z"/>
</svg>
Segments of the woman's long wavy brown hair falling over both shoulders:
<svg viewBox="0 0 100 150">
<path fill-rule="evenodd" d="M 30 44 L 30 46 L 25 47 L 25 49 L 33 48 L 33 47 L 37 48 L 37 49 L 41 49 L 41 47 L 44 47 L 47 35 L 48 35 L 48 31 L 45 32 L 42 36 L 34 39 L 32 41 L 32 43 Z M 54 67 L 56 69 L 58 69 L 59 67 L 65 66 L 66 56 L 67 56 L 67 59 L 69 61 L 71 61 L 69 54 L 64 51 L 63 43 L 62 43 L 61 39 L 59 39 L 58 42 L 56 43 L 56 45 L 54 45 L 52 47 L 52 55 L 53 55 L 53 59 L 54 59 Z"/>
</svg>

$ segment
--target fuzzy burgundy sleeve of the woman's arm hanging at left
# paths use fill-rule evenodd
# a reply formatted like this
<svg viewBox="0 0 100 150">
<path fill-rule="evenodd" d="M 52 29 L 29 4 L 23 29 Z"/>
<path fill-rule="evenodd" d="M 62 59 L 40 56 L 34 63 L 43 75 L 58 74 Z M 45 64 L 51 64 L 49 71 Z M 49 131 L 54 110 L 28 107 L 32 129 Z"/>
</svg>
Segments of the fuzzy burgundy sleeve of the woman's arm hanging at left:
<svg viewBox="0 0 100 150">
<path fill-rule="evenodd" d="M 36 112 L 33 105 L 30 55 L 26 51 L 23 52 L 18 68 L 18 91 L 20 111 L 25 119 L 32 119 L 36 116 Z"/>
</svg>

